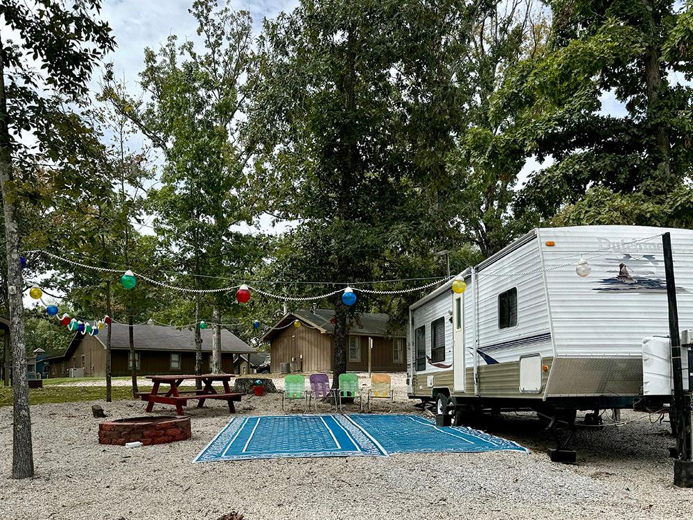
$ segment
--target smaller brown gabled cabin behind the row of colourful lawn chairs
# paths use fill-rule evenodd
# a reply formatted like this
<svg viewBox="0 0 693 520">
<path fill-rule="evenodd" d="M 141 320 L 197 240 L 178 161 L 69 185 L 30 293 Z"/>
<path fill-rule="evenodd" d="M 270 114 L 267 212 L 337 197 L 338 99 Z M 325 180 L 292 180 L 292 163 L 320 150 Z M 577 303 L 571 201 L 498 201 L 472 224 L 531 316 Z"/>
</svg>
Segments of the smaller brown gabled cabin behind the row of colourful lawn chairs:
<svg viewBox="0 0 693 520">
<path fill-rule="evenodd" d="M 286 313 L 262 340 L 270 343 L 271 370 L 281 372 L 281 363 L 292 370 L 327 372 L 332 370 L 334 316 L 331 309 L 298 310 Z M 299 320 L 301 327 L 294 327 Z M 387 314 L 362 313 L 349 330 L 347 370 L 369 370 L 369 340 L 372 340 L 371 371 L 407 370 L 407 342 L 401 329 L 391 329 Z"/>
</svg>

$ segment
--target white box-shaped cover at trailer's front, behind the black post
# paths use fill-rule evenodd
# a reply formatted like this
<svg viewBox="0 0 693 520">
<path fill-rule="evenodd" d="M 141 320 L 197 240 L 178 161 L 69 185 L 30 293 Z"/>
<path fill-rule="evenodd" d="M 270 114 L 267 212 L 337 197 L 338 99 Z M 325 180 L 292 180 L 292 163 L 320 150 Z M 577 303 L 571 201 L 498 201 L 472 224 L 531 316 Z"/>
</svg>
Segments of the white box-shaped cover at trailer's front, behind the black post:
<svg viewBox="0 0 693 520">
<path fill-rule="evenodd" d="M 681 349 L 683 390 L 688 390 L 688 354 Z M 672 395 L 672 347 L 669 338 L 644 338 L 642 340 L 642 394 Z"/>
</svg>

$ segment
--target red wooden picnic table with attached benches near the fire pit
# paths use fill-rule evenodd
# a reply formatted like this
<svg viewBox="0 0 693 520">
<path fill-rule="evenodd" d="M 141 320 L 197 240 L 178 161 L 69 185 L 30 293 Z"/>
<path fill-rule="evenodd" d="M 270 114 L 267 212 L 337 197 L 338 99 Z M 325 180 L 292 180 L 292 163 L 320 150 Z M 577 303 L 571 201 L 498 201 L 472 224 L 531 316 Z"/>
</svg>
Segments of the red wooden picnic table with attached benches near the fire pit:
<svg viewBox="0 0 693 520">
<path fill-rule="evenodd" d="M 155 403 L 163 404 L 173 404 L 175 405 L 178 415 L 183 415 L 183 407 L 188 404 L 191 399 L 198 400 L 198 408 L 204 406 L 204 401 L 207 399 L 222 399 L 229 403 L 229 411 L 231 413 L 236 413 L 236 408 L 234 407 L 234 401 L 240 402 L 241 394 L 231 392 L 229 387 L 229 381 L 232 374 L 205 374 L 203 376 L 195 375 L 173 375 L 173 376 L 147 376 L 147 379 L 151 379 L 154 386 L 152 386 L 151 392 L 138 392 L 139 397 L 142 401 L 148 401 L 147 411 L 151 412 L 154 409 Z M 201 390 L 182 390 L 179 391 L 178 387 L 183 381 L 202 381 Z M 212 383 L 216 381 L 221 381 L 224 385 L 224 393 L 220 394 L 212 386 Z M 159 386 L 161 383 L 165 385 L 170 385 L 170 389 L 166 393 L 159 393 Z"/>
</svg>

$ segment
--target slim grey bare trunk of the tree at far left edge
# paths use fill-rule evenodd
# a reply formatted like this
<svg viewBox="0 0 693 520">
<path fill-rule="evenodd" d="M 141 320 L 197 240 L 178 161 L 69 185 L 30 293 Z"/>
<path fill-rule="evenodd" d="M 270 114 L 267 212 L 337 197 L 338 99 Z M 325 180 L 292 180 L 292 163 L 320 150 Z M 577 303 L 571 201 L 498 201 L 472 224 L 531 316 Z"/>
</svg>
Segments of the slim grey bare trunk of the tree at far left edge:
<svg viewBox="0 0 693 520">
<path fill-rule="evenodd" d="M 17 225 L 16 193 L 13 186 L 12 153 L 5 92 L 5 53 L 0 42 L 0 190 L 5 219 L 7 254 L 8 306 L 10 311 L 10 345 L 12 349 L 12 478 L 34 475 L 29 415 L 29 383 L 26 373 L 24 343 L 24 304 L 21 301 L 24 281 L 19 265 L 19 226 Z"/>
</svg>

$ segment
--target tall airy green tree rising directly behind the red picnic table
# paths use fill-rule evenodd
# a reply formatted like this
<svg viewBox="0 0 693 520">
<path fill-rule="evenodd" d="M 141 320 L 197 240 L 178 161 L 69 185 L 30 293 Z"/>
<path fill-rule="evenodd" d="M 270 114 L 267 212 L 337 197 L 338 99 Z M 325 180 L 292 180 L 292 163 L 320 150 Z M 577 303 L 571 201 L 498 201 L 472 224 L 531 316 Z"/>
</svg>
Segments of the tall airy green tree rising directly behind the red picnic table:
<svg viewBox="0 0 693 520">
<path fill-rule="evenodd" d="M 246 105 L 245 78 L 252 67 L 252 21 L 229 3 L 196 0 L 190 10 L 198 21 L 201 48 L 178 44 L 175 35 L 159 53 L 147 49 L 141 87 L 147 101 L 107 92 L 121 114 L 164 154 L 161 187 L 150 191 L 155 228 L 179 252 L 179 268 L 191 272 L 195 289 L 243 272 L 243 238 L 234 225 L 252 220 L 263 202 L 244 200 L 245 168 L 251 157 L 239 139 L 238 122 Z M 212 281 L 213 280 L 213 281 Z M 212 372 L 222 372 L 222 311 L 233 302 L 221 293 L 211 297 Z M 195 317 L 204 302 L 195 296 Z M 195 370 L 202 370 L 202 340 L 195 329 Z"/>
</svg>

